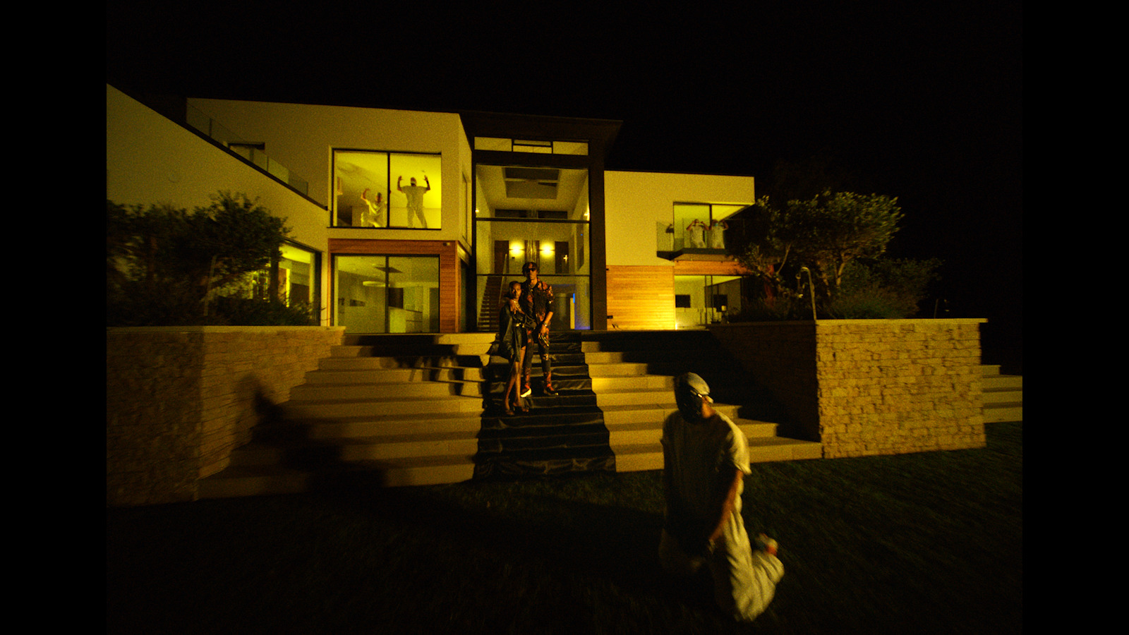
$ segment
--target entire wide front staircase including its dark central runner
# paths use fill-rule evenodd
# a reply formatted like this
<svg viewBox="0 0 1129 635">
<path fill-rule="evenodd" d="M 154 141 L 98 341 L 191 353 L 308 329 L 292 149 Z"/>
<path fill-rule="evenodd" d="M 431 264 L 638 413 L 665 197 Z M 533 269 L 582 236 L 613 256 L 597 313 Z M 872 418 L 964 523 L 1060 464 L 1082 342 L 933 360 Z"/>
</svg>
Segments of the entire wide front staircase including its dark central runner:
<svg viewBox="0 0 1129 635">
<path fill-rule="evenodd" d="M 201 497 L 662 469 L 662 424 L 683 372 L 709 382 L 752 461 L 822 454 L 816 442 L 781 436 L 772 421 L 782 412 L 706 331 L 554 333 L 558 394 L 542 394 L 534 355 L 532 409 L 511 417 L 496 403 L 506 365 L 487 354 L 492 340 L 347 337 L 227 469 L 200 481 Z"/>
</svg>

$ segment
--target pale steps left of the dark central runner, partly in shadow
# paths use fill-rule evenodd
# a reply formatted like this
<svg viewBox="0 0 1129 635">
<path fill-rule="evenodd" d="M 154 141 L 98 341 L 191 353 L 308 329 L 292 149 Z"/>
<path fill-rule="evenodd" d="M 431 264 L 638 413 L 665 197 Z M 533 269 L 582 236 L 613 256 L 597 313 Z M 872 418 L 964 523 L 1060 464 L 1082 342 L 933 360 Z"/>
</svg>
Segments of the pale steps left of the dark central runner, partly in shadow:
<svg viewBox="0 0 1129 635">
<path fill-rule="evenodd" d="M 347 336 L 201 497 L 289 494 L 364 479 L 460 482 L 482 427 L 491 333 Z"/>
</svg>

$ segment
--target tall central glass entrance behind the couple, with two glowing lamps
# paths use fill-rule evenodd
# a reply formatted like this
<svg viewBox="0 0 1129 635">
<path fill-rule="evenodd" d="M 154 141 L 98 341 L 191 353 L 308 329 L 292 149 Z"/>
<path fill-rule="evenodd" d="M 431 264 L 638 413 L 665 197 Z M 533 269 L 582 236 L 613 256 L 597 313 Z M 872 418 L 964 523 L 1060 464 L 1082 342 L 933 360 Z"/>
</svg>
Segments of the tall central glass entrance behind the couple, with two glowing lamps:
<svg viewBox="0 0 1129 635">
<path fill-rule="evenodd" d="M 476 167 L 475 258 L 479 328 L 497 322 L 501 289 L 537 264 L 553 286 L 554 330 L 592 328 L 586 169 Z"/>
</svg>

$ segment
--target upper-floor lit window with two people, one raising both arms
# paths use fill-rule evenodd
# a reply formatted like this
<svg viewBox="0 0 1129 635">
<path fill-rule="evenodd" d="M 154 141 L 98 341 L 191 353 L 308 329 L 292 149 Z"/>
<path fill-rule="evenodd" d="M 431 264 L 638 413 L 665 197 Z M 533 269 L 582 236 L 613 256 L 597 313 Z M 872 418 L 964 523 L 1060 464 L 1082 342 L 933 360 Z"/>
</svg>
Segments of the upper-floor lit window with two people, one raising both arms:
<svg viewBox="0 0 1129 635">
<path fill-rule="evenodd" d="M 333 151 L 333 226 L 439 229 L 439 155 Z"/>
</svg>

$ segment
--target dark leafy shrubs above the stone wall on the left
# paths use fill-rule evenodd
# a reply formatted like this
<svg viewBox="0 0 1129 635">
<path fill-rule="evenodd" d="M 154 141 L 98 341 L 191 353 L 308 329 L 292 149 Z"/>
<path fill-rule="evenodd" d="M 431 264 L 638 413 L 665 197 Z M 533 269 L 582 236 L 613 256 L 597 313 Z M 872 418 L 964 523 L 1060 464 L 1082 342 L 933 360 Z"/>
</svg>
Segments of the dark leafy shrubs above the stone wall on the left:
<svg viewBox="0 0 1129 635">
<path fill-rule="evenodd" d="M 219 192 L 191 212 L 107 200 L 106 323 L 230 323 L 213 296 L 278 261 L 288 235 L 282 218 L 242 193 Z"/>
</svg>

